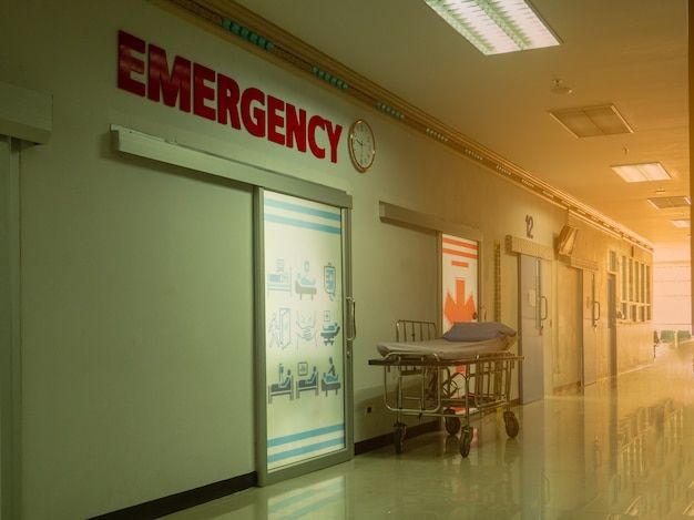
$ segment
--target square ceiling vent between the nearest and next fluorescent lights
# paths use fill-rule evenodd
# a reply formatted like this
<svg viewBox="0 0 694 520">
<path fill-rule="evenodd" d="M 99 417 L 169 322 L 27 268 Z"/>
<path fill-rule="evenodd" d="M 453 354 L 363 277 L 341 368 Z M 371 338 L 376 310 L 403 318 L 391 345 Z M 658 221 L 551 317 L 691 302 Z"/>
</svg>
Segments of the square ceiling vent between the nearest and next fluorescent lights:
<svg viewBox="0 0 694 520">
<path fill-rule="evenodd" d="M 576 137 L 633 133 L 613 104 L 552 110 L 550 114 Z"/>
</svg>

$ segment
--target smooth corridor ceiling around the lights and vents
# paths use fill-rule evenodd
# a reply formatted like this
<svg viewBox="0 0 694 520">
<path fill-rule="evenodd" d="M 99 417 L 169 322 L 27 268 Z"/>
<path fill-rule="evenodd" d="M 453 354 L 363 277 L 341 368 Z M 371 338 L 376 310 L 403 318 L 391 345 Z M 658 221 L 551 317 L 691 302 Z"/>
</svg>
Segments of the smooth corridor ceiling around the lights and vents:
<svg viewBox="0 0 694 520">
<path fill-rule="evenodd" d="M 690 230 L 646 197 L 688 195 L 687 1 L 534 0 L 560 47 L 484 57 L 422 0 L 237 0 L 659 246 Z M 551 92 L 561 79 L 573 93 Z M 633 134 L 576 139 L 549 110 L 613 103 Z M 660 161 L 626 184 L 611 164 Z"/>
</svg>

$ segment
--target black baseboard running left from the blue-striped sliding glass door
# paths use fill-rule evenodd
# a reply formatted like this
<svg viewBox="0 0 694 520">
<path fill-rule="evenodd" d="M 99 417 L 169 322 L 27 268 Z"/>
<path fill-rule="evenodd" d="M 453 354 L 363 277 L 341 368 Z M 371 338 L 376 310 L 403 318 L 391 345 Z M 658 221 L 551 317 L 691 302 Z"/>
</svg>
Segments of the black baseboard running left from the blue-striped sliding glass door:
<svg viewBox="0 0 694 520">
<path fill-rule="evenodd" d="M 253 471 L 190 491 L 170 494 L 150 502 L 93 517 L 91 520 L 151 520 L 243 491 L 256 486 L 257 482 L 258 476 Z"/>
</svg>

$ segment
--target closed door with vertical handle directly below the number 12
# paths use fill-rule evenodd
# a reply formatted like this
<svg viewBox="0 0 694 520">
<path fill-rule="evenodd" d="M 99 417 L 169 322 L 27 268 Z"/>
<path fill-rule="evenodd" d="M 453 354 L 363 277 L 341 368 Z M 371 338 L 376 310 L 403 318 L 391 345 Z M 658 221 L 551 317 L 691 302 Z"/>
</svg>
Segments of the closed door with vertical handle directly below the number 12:
<svg viewBox="0 0 694 520">
<path fill-rule="evenodd" d="M 547 297 L 542 295 L 542 263 L 534 256 L 519 256 L 520 273 L 520 369 L 521 402 L 544 397 L 544 353 L 542 329 L 548 315 Z"/>
</svg>

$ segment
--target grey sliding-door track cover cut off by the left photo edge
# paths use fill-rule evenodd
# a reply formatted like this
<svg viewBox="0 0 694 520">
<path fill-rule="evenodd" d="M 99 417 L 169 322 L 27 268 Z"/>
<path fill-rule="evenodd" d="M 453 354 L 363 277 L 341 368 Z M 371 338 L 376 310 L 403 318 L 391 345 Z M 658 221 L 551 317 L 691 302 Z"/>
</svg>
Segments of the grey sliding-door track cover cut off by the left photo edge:
<svg viewBox="0 0 694 520">
<path fill-rule="evenodd" d="M 52 95 L 0 81 L 0 135 L 45 144 L 52 130 Z"/>
</svg>

